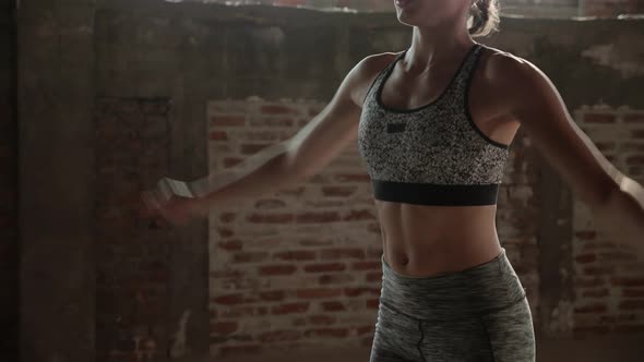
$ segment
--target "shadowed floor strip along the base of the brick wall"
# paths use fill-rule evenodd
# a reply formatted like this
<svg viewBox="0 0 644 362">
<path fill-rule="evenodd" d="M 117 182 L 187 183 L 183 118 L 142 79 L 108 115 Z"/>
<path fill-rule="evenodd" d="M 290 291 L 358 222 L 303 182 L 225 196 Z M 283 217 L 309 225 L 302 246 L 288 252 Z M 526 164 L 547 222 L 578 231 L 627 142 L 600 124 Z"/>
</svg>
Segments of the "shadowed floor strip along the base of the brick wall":
<svg viewBox="0 0 644 362">
<path fill-rule="evenodd" d="M 326 349 L 289 352 L 266 352 L 235 358 L 215 359 L 217 362 L 356 362 L 369 361 L 368 349 Z M 644 361 L 644 335 L 586 340 L 540 340 L 537 342 L 538 362 L 642 362 Z M 521 362 L 521 361 L 516 361 Z"/>
</svg>

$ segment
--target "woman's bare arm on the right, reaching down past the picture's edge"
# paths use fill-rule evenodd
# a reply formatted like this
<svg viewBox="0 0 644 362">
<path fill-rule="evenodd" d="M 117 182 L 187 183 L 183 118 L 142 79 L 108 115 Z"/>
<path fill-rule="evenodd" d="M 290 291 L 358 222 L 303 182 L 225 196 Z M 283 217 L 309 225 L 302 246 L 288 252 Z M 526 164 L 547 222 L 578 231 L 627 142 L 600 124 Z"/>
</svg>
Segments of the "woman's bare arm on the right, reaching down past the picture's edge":
<svg viewBox="0 0 644 362">
<path fill-rule="evenodd" d="M 511 114 L 538 153 L 592 209 L 599 230 L 644 258 L 644 188 L 620 172 L 577 126 L 544 72 L 528 61 L 503 57 Z"/>
</svg>

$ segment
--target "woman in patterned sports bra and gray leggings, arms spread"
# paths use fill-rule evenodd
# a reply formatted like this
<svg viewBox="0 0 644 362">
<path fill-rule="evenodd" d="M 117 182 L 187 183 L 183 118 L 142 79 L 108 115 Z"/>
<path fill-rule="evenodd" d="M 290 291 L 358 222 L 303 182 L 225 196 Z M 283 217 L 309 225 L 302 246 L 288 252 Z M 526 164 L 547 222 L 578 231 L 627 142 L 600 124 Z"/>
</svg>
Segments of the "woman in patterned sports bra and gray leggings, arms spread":
<svg viewBox="0 0 644 362">
<path fill-rule="evenodd" d="M 535 361 L 526 293 L 501 248 L 497 192 L 520 126 L 616 240 L 644 236 L 644 192 L 572 122 L 547 76 L 473 40 L 494 0 L 396 0 L 410 47 L 367 57 L 308 125 L 237 174 L 145 194 L 175 224 L 319 172 L 358 141 L 383 236 L 371 362 Z M 248 166 L 248 165 L 247 165 Z M 641 245 L 637 245 L 641 246 Z"/>
</svg>

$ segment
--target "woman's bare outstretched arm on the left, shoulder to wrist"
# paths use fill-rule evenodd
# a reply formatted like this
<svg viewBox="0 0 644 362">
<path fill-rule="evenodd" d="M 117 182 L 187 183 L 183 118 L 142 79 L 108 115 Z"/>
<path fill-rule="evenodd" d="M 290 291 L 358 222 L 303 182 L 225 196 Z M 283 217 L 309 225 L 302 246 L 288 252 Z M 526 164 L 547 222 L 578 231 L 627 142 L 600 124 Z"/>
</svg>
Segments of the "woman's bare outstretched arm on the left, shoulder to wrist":
<svg viewBox="0 0 644 362">
<path fill-rule="evenodd" d="M 362 100 L 391 56 L 365 58 L 345 76 L 331 101 L 290 138 L 266 147 L 232 170 L 196 180 L 203 214 L 212 205 L 255 197 L 307 180 L 355 142 Z"/>
</svg>

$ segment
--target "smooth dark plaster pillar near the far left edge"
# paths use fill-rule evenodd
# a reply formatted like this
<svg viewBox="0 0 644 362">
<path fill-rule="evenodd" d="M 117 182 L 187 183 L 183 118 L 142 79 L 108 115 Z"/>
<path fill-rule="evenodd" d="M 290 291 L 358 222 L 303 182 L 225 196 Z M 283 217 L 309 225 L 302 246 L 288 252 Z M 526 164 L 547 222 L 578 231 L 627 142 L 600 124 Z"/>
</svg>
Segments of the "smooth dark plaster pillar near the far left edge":
<svg viewBox="0 0 644 362">
<path fill-rule="evenodd" d="M 17 11 L 22 361 L 94 359 L 94 5 Z"/>
</svg>

